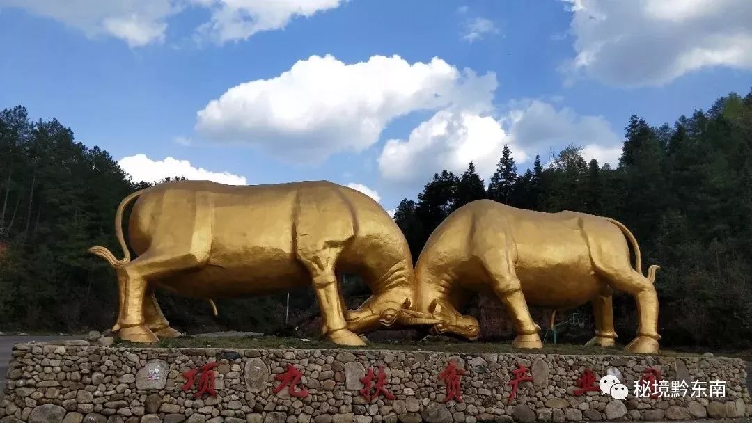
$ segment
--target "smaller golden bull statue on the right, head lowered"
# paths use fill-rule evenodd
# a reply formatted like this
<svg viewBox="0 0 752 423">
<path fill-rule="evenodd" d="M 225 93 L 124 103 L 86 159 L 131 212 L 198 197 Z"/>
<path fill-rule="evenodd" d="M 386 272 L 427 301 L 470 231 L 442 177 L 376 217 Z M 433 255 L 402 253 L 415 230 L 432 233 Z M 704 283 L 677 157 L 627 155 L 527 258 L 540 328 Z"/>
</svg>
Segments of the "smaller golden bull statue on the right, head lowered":
<svg viewBox="0 0 752 423">
<path fill-rule="evenodd" d="M 632 267 L 629 246 L 635 252 Z M 513 346 L 541 348 L 528 304 L 563 310 L 593 303 L 596 336 L 588 345 L 613 346 L 613 289 L 635 298 L 638 336 L 631 352 L 658 352 L 655 272 L 641 271 L 640 249 L 619 222 L 585 213 L 541 213 L 479 200 L 454 211 L 435 229 L 415 266 L 412 304 L 402 316 L 431 317 L 438 334 L 475 339 L 478 321 L 457 310 L 475 292 L 505 304 L 517 337 Z M 405 317 L 405 321 L 409 318 Z"/>
</svg>

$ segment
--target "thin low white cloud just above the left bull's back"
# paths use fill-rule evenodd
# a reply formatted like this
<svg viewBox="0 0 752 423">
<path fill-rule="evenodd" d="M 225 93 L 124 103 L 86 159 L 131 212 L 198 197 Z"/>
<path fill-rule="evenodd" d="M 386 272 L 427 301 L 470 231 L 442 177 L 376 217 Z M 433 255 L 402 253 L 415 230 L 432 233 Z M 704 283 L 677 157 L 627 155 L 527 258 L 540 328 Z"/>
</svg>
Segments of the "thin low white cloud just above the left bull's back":
<svg viewBox="0 0 752 423">
<path fill-rule="evenodd" d="M 187 160 L 168 157 L 164 160 L 152 160 L 144 154 L 128 156 L 117 162 L 123 170 L 131 175 L 135 182 L 154 182 L 165 177 L 186 177 L 189 180 L 212 180 L 228 185 L 247 185 L 245 177 L 229 172 L 212 172 L 204 168 L 195 168 Z"/>
</svg>

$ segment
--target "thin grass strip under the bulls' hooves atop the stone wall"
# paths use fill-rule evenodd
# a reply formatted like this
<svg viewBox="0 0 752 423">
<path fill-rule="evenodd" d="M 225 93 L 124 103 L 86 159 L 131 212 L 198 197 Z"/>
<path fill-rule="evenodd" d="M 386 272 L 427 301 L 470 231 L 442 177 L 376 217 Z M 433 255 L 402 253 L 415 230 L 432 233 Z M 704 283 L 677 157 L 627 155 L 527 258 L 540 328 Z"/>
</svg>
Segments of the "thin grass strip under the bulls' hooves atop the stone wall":
<svg viewBox="0 0 752 423">
<path fill-rule="evenodd" d="M 143 347 L 143 344 L 117 342 L 116 346 Z M 511 343 L 470 343 L 447 340 L 444 337 L 427 337 L 420 341 L 399 342 L 371 342 L 366 346 L 341 346 L 326 340 L 304 341 L 291 337 L 179 337 L 160 340 L 151 345 L 153 348 L 219 348 L 219 349 L 391 349 L 405 351 L 436 351 L 458 352 L 467 354 L 511 353 L 511 354 L 559 354 L 559 355 L 635 355 L 623 350 L 623 346 L 615 348 L 590 347 L 581 345 L 556 344 L 544 345 L 543 349 L 517 349 Z M 697 353 L 662 350 L 660 355 L 699 356 Z"/>
</svg>

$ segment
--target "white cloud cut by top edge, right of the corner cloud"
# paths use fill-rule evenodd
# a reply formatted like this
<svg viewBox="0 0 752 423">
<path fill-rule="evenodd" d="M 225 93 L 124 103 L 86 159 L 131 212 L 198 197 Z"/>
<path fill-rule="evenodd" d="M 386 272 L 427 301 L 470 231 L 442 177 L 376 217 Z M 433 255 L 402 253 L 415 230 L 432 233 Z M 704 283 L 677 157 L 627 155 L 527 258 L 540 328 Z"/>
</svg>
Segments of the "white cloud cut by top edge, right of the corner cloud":
<svg viewBox="0 0 752 423">
<path fill-rule="evenodd" d="M 256 32 L 283 29 L 295 17 L 311 17 L 347 0 L 193 0 L 211 8 L 199 35 L 218 43 L 247 40 Z"/>
</svg>

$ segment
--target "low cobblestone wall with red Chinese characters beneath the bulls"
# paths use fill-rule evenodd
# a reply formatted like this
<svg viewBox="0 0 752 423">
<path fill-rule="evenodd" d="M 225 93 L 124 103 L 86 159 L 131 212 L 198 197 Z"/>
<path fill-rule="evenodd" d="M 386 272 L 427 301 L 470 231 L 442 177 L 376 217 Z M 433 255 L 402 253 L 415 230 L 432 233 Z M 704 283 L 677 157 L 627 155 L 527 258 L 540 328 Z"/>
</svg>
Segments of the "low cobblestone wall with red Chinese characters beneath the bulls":
<svg viewBox="0 0 752 423">
<path fill-rule="evenodd" d="M 217 396 L 196 398 L 198 383 L 183 373 L 216 361 Z M 444 401 L 439 374 L 452 362 L 463 402 Z M 513 370 L 529 367 L 510 400 Z M 292 367 L 290 367 L 292 366 Z M 370 401 L 360 390 L 369 369 L 384 372 L 385 394 Z M 575 395 L 590 368 L 596 378 L 620 370 L 626 400 L 597 391 Z M 296 390 L 274 393 L 291 368 L 302 373 Z M 689 391 L 668 398 L 635 397 L 647 368 L 684 381 Z M 292 373 L 288 373 L 293 376 Z M 276 377 L 275 377 L 276 376 Z M 752 414 L 744 362 L 735 358 L 608 355 L 466 355 L 444 352 L 284 349 L 149 349 L 20 344 L 14 347 L 0 423 L 431 423 L 475 421 L 599 421 L 735 418 Z M 210 378 L 211 379 L 211 378 Z M 210 380 L 207 379 L 207 380 Z M 692 397 L 692 381 L 726 382 L 725 396 Z M 211 380 L 210 380 L 211 381 Z M 185 387 L 185 389 L 183 389 Z M 371 391 L 373 394 L 374 391 Z"/>
</svg>

